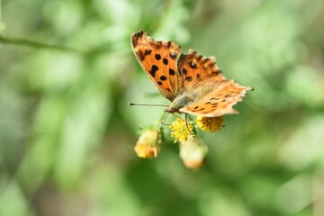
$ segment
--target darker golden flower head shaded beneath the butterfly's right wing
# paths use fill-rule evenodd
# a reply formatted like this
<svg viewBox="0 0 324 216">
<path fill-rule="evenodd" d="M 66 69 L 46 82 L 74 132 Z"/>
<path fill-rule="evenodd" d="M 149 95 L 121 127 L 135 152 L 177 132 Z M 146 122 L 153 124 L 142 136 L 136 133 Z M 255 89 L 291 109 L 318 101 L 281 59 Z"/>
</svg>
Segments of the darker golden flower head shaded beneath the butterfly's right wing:
<svg viewBox="0 0 324 216">
<path fill-rule="evenodd" d="M 224 125 L 222 116 L 220 117 L 202 117 L 198 116 L 196 119 L 197 125 L 205 131 L 214 132 L 220 130 Z"/>
</svg>

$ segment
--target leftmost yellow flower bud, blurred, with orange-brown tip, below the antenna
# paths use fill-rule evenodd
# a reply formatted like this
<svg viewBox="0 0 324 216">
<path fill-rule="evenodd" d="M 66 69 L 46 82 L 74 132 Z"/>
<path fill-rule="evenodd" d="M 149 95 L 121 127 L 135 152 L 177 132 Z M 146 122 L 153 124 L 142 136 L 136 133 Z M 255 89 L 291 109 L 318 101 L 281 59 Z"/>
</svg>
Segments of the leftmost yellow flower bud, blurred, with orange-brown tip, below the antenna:
<svg viewBox="0 0 324 216">
<path fill-rule="evenodd" d="M 152 158 L 157 157 L 160 147 L 160 133 L 158 130 L 146 129 L 139 136 L 139 140 L 134 148 L 138 157 Z"/>
</svg>

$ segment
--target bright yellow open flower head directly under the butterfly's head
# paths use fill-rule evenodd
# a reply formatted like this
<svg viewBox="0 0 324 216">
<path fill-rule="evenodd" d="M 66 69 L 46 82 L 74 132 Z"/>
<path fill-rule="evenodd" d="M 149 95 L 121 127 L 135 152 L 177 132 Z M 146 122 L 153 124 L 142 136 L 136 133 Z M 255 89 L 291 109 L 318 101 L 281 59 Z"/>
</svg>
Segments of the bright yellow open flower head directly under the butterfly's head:
<svg viewBox="0 0 324 216">
<path fill-rule="evenodd" d="M 171 137 L 177 140 L 186 141 L 190 136 L 193 136 L 193 125 L 189 122 L 185 122 L 184 119 L 176 119 L 170 125 Z"/>
</svg>

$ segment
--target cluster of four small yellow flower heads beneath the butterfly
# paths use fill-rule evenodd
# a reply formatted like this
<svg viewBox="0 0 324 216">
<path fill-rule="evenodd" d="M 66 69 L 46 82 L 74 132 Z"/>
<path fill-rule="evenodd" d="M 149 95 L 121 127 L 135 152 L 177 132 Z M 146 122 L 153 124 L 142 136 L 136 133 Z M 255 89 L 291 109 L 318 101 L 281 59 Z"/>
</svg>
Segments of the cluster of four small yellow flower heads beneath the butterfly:
<svg viewBox="0 0 324 216">
<path fill-rule="evenodd" d="M 214 132 L 224 126 L 224 121 L 221 116 L 199 116 L 194 122 L 177 118 L 171 123 L 169 126 L 171 129 L 171 137 L 175 138 L 175 142 L 179 141 L 180 157 L 184 162 L 184 166 L 191 169 L 202 166 L 204 157 L 208 152 L 208 148 L 203 143 L 201 135 L 196 134 L 197 130 L 195 126 L 204 131 Z M 134 150 L 138 157 L 157 157 L 161 149 L 161 142 L 161 128 L 156 129 L 151 127 L 141 131 Z"/>
</svg>

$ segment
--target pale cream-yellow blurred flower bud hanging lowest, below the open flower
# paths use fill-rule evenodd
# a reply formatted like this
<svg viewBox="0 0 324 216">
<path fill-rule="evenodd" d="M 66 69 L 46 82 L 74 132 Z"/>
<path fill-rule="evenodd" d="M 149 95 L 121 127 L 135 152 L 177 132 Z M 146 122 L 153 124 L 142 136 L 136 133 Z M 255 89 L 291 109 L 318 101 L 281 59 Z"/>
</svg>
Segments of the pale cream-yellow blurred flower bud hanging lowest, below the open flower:
<svg viewBox="0 0 324 216">
<path fill-rule="evenodd" d="M 202 139 L 191 137 L 180 143 L 180 157 L 187 168 L 196 169 L 202 166 L 207 152 L 208 148 Z"/>
</svg>

